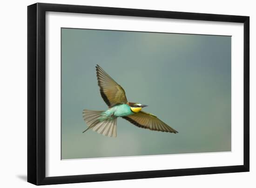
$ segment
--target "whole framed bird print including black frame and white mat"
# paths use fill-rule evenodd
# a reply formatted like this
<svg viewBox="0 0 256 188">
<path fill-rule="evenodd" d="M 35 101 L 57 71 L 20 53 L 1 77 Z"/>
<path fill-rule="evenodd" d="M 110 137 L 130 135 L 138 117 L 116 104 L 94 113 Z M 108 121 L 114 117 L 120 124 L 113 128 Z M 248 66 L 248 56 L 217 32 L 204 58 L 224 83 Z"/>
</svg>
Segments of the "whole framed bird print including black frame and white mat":
<svg viewBox="0 0 256 188">
<path fill-rule="evenodd" d="M 28 6 L 27 181 L 249 171 L 249 17 Z"/>
</svg>

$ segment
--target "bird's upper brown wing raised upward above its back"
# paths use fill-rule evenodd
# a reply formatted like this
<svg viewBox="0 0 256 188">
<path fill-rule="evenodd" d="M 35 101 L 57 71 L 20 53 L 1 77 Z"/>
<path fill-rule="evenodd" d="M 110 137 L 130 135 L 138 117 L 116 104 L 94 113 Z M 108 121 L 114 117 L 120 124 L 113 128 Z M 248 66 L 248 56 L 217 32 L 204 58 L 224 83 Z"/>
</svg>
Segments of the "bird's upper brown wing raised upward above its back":
<svg viewBox="0 0 256 188">
<path fill-rule="evenodd" d="M 101 97 L 108 107 L 127 103 L 124 89 L 116 83 L 99 65 L 96 66 Z"/>
</svg>

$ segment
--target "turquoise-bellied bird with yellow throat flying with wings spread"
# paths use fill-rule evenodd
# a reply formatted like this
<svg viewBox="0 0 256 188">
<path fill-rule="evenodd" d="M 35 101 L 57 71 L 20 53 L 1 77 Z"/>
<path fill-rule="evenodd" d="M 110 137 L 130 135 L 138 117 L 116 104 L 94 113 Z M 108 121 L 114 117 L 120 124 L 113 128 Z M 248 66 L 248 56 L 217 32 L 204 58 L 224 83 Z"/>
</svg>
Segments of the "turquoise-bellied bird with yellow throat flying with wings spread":
<svg viewBox="0 0 256 188">
<path fill-rule="evenodd" d="M 96 66 L 96 74 L 100 93 L 108 105 L 106 111 L 83 110 L 83 119 L 88 129 L 93 129 L 99 134 L 108 137 L 116 137 L 116 122 L 122 117 L 135 126 L 154 131 L 178 133 L 169 127 L 155 115 L 141 111 L 147 105 L 136 102 L 128 102 L 124 89 L 116 83 L 99 65 Z M 83 133 L 85 132 L 83 131 Z"/>
</svg>

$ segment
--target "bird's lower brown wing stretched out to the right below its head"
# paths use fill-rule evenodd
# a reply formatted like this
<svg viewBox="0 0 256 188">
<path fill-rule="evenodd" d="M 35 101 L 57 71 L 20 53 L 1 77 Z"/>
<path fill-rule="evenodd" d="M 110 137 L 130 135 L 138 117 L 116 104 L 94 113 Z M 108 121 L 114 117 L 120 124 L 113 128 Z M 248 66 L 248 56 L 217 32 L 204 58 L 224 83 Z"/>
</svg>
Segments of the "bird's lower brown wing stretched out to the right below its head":
<svg viewBox="0 0 256 188">
<path fill-rule="evenodd" d="M 178 133 L 178 131 L 169 127 L 163 121 L 159 120 L 155 115 L 143 111 L 122 118 L 130 121 L 131 123 L 140 128 L 147 128 L 154 131 L 162 131 L 169 133 Z"/>
</svg>

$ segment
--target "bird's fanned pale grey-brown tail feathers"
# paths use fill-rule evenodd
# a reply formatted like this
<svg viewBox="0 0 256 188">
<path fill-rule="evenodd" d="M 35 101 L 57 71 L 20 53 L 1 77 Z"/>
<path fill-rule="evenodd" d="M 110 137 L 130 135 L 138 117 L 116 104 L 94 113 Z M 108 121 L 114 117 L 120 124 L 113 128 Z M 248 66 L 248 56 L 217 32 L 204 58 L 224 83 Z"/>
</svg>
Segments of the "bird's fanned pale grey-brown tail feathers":
<svg viewBox="0 0 256 188">
<path fill-rule="evenodd" d="M 103 134 L 108 137 L 116 137 L 116 118 L 104 118 L 102 113 L 104 111 L 96 110 L 83 110 L 83 119 L 88 125 L 87 131 L 89 128 L 93 128 L 93 131 L 96 131 L 99 134 Z M 83 133 L 85 132 L 83 131 Z"/>
</svg>

